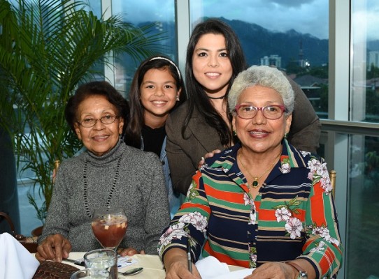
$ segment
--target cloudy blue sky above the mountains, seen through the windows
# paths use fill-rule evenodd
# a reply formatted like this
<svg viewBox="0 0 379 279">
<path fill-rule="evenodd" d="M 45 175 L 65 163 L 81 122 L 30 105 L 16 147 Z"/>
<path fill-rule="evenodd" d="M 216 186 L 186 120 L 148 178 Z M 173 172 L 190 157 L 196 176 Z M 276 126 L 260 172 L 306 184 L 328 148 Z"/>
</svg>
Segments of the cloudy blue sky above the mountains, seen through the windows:
<svg viewBox="0 0 379 279">
<path fill-rule="evenodd" d="M 362 30 L 367 29 L 367 38 L 379 39 L 379 1 L 352 2 L 359 34 L 362 36 Z M 138 10 L 127 13 L 136 5 Z M 271 31 L 294 29 L 320 39 L 329 37 L 329 0 L 190 0 L 190 7 L 194 21 L 202 16 L 222 16 L 259 24 Z M 113 12 L 127 13 L 128 21 L 134 23 L 174 18 L 173 0 L 113 0 Z"/>
</svg>

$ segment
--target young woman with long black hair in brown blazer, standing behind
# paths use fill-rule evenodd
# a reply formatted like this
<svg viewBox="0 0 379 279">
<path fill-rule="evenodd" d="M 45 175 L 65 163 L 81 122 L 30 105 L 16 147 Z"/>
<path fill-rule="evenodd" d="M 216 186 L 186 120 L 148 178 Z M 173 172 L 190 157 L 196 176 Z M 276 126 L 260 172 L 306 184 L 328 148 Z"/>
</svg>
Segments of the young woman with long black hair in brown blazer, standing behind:
<svg viewBox="0 0 379 279">
<path fill-rule="evenodd" d="M 187 193 L 202 156 L 236 142 L 227 96 L 234 79 L 245 68 L 241 43 L 229 25 L 216 19 L 196 25 L 185 67 L 189 98 L 166 123 L 173 188 L 180 193 Z M 295 92 L 295 108 L 287 139 L 297 149 L 315 153 L 320 120 L 301 88 L 289 82 Z"/>
</svg>

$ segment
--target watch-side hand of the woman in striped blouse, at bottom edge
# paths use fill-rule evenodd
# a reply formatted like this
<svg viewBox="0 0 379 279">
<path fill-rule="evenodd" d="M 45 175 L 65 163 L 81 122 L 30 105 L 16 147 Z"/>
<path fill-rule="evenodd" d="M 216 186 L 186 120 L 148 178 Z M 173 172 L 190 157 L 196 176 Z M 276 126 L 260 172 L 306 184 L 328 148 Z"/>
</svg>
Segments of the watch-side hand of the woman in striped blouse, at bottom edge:
<svg viewBox="0 0 379 279">
<path fill-rule="evenodd" d="M 255 271 L 252 271 L 252 275 L 246 276 L 244 279 L 288 279 L 296 278 L 296 275 L 296 271 L 289 264 L 268 262 L 259 266 Z"/>
</svg>

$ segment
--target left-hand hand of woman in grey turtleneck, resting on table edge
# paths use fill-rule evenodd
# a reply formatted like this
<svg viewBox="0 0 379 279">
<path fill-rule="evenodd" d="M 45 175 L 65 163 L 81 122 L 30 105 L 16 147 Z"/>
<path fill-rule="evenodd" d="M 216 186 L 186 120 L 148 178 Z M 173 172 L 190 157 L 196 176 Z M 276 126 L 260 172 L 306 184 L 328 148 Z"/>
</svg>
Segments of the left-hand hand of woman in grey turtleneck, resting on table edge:
<svg viewBox="0 0 379 279">
<path fill-rule="evenodd" d="M 69 239 L 66 239 L 62 234 L 52 234 L 37 247 L 36 258 L 39 262 L 46 259 L 62 262 L 62 259 L 69 257 L 71 249 Z"/>
</svg>

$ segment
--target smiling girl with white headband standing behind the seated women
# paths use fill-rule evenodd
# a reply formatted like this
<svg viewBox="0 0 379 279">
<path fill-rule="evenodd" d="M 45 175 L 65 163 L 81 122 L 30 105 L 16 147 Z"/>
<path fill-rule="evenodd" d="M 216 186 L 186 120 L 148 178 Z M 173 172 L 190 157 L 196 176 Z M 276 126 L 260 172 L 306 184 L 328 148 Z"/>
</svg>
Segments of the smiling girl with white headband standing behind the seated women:
<svg viewBox="0 0 379 279">
<path fill-rule="evenodd" d="M 169 195 L 171 217 L 180 206 L 179 194 L 173 192 L 166 156 L 166 119 L 187 100 L 180 70 L 171 59 L 153 56 L 138 67 L 129 93 L 130 120 L 124 142 L 159 156 Z"/>
</svg>

